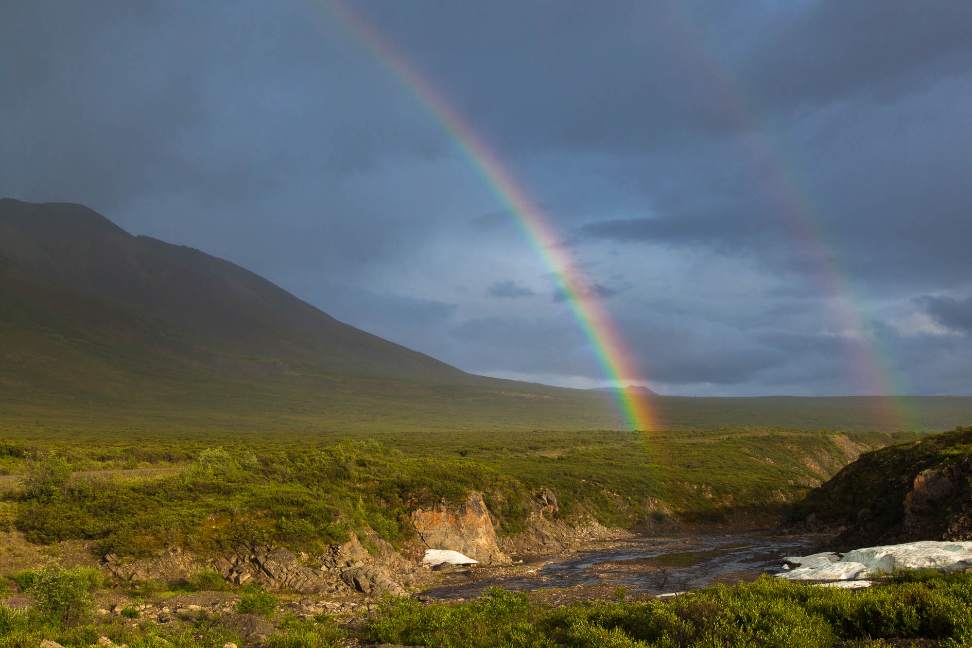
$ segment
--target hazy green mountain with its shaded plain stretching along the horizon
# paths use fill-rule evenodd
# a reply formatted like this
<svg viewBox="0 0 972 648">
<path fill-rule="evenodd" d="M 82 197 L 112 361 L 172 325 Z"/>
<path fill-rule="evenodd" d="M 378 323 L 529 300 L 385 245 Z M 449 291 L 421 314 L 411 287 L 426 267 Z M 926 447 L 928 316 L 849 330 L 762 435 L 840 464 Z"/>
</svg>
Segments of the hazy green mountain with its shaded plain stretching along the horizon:
<svg viewBox="0 0 972 648">
<path fill-rule="evenodd" d="M 81 205 L 0 199 L 0 435 L 622 428 L 608 392 L 466 374 Z M 945 430 L 958 397 L 651 400 L 659 427 Z"/>
</svg>

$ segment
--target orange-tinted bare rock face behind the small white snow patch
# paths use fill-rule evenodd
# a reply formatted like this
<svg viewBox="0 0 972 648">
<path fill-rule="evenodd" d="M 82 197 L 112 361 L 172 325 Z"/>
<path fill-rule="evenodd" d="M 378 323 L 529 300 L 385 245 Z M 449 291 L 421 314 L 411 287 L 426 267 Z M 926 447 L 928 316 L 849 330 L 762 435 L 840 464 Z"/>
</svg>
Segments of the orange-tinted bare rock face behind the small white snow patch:
<svg viewBox="0 0 972 648">
<path fill-rule="evenodd" d="M 429 549 L 450 549 L 486 564 L 507 564 L 497 544 L 496 528 L 482 494 L 472 492 L 464 503 L 440 502 L 412 512 L 415 533 Z"/>
</svg>

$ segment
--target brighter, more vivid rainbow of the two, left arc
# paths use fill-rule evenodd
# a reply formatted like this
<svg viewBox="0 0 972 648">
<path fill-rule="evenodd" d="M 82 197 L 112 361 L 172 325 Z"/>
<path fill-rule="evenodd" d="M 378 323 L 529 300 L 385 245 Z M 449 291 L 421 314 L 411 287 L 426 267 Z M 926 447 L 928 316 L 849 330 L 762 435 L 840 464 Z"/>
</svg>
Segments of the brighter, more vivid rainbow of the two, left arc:
<svg viewBox="0 0 972 648">
<path fill-rule="evenodd" d="M 402 88 L 411 93 L 448 132 L 456 147 L 513 215 L 517 226 L 554 277 L 557 290 L 565 297 L 578 326 L 590 342 L 604 376 L 616 387 L 641 381 L 641 374 L 632 360 L 632 354 L 628 352 L 604 306 L 592 294 L 583 275 L 563 251 L 548 220 L 530 201 L 492 149 L 433 85 L 362 18 L 356 16 L 340 0 L 330 0 L 328 6 L 332 14 L 357 36 L 364 47 L 394 73 Z M 615 389 L 614 393 L 621 413 L 632 430 L 656 429 L 647 398 L 623 388 Z"/>
</svg>

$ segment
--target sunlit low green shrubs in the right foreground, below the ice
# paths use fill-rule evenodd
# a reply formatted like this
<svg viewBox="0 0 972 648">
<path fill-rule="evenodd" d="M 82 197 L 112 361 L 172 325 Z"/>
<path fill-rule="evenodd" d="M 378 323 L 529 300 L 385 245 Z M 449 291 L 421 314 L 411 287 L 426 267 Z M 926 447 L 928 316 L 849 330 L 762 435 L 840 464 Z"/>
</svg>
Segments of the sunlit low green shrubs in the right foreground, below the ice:
<svg viewBox="0 0 972 648">
<path fill-rule="evenodd" d="M 972 576 L 904 574 L 856 592 L 764 576 L 674 600 L 563 608 L 533 604 L 527 594 L 494 590 L 459 605 L 387 602 L 370 622 L 368 638 L 430 648 L 823 648 L 909 638 L 965 646 L 972 641 Z"/>
</svg>

